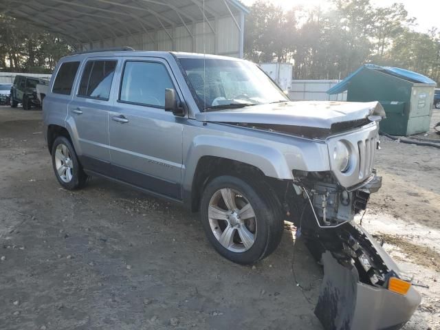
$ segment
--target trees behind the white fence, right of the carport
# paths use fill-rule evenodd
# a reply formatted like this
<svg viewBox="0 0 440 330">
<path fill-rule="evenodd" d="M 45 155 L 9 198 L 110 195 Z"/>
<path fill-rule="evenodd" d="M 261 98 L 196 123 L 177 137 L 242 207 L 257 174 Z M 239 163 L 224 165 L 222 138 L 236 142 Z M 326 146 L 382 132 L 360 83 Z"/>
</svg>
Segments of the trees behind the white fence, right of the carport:
<svg viewBox="0 0 440 330">
<path fill-rule="evenodd" d="M 360 65 L 410 69 L 440 82 L 440 34 L 413 29 L 404 5 L 374 7 L 370 0 L 333 0 L 327 10 L 283 11 L 259 0 L 245 28 L 245 57 L 290 62 L 298 79 L 344 78 Z"/>
</svg>

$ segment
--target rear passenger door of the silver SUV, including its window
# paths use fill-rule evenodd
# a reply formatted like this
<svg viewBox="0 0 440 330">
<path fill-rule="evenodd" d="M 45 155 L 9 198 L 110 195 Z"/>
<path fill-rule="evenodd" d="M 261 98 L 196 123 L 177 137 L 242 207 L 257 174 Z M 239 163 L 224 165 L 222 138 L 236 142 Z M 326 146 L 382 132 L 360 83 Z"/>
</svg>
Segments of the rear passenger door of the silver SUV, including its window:
<svg viewBox="0 0 440 330">
<path fill-rule="evenodd" d="M 84 61 L 67 116 L 76 129 L 80 162 L 86 169 L 105 175 L 110 162 L 107 113 L 113 104 L 110 95 L 117 65 L 115 58 Z"/>
</svg>

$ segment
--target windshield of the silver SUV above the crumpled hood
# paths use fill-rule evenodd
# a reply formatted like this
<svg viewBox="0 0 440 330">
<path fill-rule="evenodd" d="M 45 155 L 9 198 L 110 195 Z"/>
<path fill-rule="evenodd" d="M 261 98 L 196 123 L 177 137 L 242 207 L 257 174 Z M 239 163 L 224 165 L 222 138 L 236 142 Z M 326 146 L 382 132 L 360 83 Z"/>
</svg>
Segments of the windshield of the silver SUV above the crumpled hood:
<svg viewBox="0 0 440 330">
<path fill-rule="evenodd" d="M 289 99 L 256 65 L 245 61 L 179 58 L 201 111 Z"/>
</svg>

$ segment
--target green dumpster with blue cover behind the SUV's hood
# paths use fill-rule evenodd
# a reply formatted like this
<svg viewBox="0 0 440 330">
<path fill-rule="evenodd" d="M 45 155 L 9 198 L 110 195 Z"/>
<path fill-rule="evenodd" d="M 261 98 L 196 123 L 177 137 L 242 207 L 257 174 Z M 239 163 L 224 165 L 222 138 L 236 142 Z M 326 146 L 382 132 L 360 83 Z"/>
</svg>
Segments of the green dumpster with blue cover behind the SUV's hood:
<svg viewBox="0 0 440 330">
<path fill-rule="evenodd" d="M 386 113 L 380 130 L 407 136 L 429 130 L 436 86 L 434 80 L 421 74 L 370 64 L 360 67 L 327 93 L 347 91 L 347 101 L 379 101 Z"/>
</svg>

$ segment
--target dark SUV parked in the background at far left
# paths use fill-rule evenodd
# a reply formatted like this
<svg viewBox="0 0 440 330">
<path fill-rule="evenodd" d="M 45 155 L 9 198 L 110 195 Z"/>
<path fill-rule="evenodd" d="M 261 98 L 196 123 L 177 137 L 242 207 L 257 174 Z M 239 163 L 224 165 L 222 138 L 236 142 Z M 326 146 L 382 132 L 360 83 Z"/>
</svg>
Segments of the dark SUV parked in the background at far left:
<svg viewBox="0 0 440 330">
<path fill-rule="evenodd" d="M 32 105 L 40 107 L 41 102 L 36 96 L 37 84 L 47 85 L 47 81 L 35 77 L 16 76 L 11 87 L 11 107 L 16 108 L 19 103 L 25 110 L 29 110 Z"/>
</svg>

